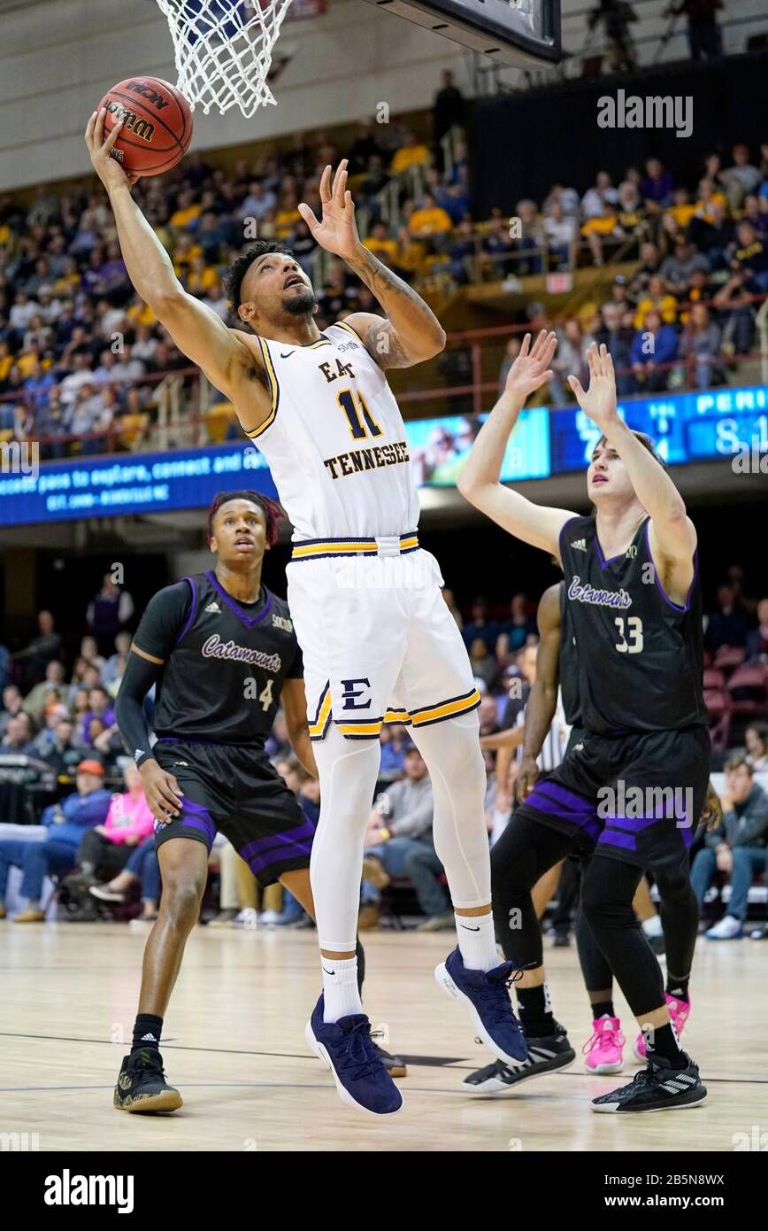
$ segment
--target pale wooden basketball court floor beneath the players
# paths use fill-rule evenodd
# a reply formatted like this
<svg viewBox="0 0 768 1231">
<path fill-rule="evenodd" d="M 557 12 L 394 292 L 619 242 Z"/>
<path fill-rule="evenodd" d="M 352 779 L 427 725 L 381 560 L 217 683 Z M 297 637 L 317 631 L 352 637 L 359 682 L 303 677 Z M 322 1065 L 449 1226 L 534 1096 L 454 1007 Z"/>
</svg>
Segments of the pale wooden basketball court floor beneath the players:
<svg viewBox="0 0 768 1231">
<path fill-rule="evenodd" d="M 706 1102 L 620 1118 L 594 1115 L 588 1099 L 631 1080 L 638 1064 L 626 1046 L 618 1078 L 585 1073 L 590 1018 L 574 948 L 548 948 L 546 958 L 576 1064 L 512 1097 L 478 1098 L 460 1083 L 491 1057 L 432 977 L 452 933 L 364 933 L 366 1007 L 409 1066 L 402 1112 L 375 1121 L 345 1107 L 304 1043 L 320 987 L 314 932 L 196 929 L 162 1045 L 185 1105 L 140 1117 L 116 1112 L 112 1089 L 130 1040 L 146 932 L 10 921 L 0 928 L 0 1131 L 37 1134 L 41 1151 L 732 1151 L 766 1125 L 767 943 L 699 943 L 686 1043 Z M 618 1006 L 631 1040 L 620 996 Z"/>
</svg>

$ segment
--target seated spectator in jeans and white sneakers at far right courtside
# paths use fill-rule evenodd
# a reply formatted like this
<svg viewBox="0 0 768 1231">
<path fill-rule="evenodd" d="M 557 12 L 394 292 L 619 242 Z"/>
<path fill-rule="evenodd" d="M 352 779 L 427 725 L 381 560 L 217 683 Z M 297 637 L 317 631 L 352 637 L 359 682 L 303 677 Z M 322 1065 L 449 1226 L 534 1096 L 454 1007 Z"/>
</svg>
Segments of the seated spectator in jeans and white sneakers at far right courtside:
<svg viewBox="0 0 768 1231">
<path fill-rule="evenodd" d="M 747 917 L 750 885 L 766 870 L 768 851 L 768 795 L 753 780 L 752 766 L 738 752 L 725 763 L 722 820 L 708 832 L 690 869 L 690 885 L 699 906 L 716 872 L 731 883 L 727 911 L 706 933 L 709 940 L 737 940 Z"/>
</svg>

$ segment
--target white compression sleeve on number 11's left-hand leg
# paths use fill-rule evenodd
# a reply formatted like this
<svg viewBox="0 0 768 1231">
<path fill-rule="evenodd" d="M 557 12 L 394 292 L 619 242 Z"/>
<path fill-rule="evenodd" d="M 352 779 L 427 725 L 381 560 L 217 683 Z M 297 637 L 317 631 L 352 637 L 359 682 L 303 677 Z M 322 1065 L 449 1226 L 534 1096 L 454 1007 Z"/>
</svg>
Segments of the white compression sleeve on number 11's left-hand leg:
<svg viewBox="0 0 768 1231">
<path fill-rule="evenodd" d="M 314 751 L 320 776 L 320 821 L 310 879 L 318 940 L 329 953 L 353 953 L 363 844 L 382 750 L 378 740 L 346 740 L 331 724 Z"/>
</svg>

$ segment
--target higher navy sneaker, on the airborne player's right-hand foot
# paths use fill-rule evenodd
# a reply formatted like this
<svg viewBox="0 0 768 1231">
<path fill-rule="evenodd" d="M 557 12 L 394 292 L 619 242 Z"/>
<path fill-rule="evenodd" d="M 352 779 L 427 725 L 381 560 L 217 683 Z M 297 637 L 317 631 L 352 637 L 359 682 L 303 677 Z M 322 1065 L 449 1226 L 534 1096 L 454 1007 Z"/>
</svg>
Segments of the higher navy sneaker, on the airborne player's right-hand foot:
<svg viewBox="0 0 768 1231">
<path fill-rule="evenodd" d="M 441 987 L 449 996 L 464 1001 L 486 1048 L 507 1064 L 517 1064 L 528 1056 L 526 1038 L 512 1012 L 507 991 L 513 969 L 511 961 L 503 961 L 494 970 L 466 970 L 457 948 L 434 970 Z"/>
</svg>

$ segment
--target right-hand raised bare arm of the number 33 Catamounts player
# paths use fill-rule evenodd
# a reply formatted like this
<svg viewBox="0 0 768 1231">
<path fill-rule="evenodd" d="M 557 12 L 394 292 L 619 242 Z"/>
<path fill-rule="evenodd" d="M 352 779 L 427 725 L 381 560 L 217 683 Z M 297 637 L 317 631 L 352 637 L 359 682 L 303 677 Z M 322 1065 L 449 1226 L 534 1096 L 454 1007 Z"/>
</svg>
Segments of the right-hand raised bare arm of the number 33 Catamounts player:
<svg viewBox="0 0 768 1231">
<path fill-rule="evenodd" d="M 672 565 L 679 565 L 684 576 L 683 590 L 687 590 L 693 577 L 693 553 L 697 535 L 693 523 L 686 512 L 686 503 L 672 479 L 656 458 L 634 436 L 617 407 L 615 377 L 613 359 L 606 346 L 599 348 L 594 342 L 587 351 L 590 364 L 590 388 L 585 391 L 576 377 L 569 377 L 569 384 L 578 405 L 599 427 L 609 446 L 622 458 L 626 474 L 635 490 L 638 500 L 650 515 L 650 545 L 656 561 L 661 556 Z"/>
</svg>

